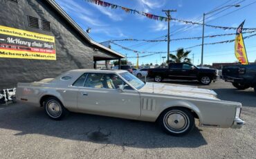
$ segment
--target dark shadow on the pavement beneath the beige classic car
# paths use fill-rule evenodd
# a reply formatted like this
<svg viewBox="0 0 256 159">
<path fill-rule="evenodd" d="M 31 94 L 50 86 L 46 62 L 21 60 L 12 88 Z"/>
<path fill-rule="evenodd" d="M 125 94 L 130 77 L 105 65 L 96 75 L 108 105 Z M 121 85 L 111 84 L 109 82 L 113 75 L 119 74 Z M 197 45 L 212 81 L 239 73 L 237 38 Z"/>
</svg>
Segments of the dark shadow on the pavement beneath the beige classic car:
<svg viewBox="0 0 256 159">
<path fill-rule="evenodd" d="M 41 134 L 123 147 L 201 147 L 207 142 L 195 127 L 183 137 L 166 135 L 154 122 L 140 122 L 99 115 L 71 113 L 64 120 L 49 119 L 44 110 L 12 104 L 0 110 L 0 128 L 20 131 L 15 135 Z"/>
</svg>

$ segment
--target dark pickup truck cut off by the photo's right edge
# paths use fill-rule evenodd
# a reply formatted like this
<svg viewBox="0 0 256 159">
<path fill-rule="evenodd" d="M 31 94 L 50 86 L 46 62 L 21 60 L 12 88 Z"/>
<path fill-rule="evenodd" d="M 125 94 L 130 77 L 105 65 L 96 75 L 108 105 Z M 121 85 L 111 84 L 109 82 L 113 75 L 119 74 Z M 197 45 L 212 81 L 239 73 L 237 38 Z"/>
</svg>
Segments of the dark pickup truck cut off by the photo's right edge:
<svg viewBox="0 0 256 159">
<path fill-rule="evenodd" d="M 222 66 L 221 78 L 240 90 L 253 87 L 256 93 L 256 64 Z"/>
</svg>

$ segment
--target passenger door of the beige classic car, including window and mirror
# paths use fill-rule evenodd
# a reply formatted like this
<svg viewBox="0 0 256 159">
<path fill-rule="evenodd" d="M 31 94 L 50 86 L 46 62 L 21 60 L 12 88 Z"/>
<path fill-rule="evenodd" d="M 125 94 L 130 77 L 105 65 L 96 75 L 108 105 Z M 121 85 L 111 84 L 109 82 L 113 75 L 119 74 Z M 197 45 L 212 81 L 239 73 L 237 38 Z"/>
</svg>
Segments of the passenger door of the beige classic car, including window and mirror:
<svg viewBox="0 0 256 159">
<path fill-rule="evenodd" d="M 77 93 L 77 109 L 84 113 L 136 119 L 140 116 L 140 95 L 113 73 L 89 73 Z"/>
</svg>

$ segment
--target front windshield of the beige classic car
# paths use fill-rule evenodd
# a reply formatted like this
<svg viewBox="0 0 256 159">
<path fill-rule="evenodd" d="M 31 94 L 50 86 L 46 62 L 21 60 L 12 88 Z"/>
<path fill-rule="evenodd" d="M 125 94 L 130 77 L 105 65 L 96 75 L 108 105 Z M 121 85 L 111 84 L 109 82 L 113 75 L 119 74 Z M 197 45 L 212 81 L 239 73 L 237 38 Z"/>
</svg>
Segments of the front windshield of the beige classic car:
<svg viewBox="0 0 256 159">
<path fill-rule="evenodd" d="M 134 86 L 137 89 L 143 88 L 145 83 L 135 77 L 134 75 L 131 75 L 131 73 L 120 73 L 120 75 L 131 84 L 131 86 Z"/>
</svg>

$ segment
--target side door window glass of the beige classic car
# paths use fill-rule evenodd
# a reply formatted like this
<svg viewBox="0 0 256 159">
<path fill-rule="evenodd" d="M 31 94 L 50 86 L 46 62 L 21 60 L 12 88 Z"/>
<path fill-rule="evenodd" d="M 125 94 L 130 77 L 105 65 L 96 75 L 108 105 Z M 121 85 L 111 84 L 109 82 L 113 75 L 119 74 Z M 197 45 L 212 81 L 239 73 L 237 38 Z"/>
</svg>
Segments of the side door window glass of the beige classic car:
<svg viewBox="0 0 256 159">
<path fill-rule="evenodd" d="M 84 87 L 116 89 L 121 84 L 125 84 L 125 82 L 123 82 L 116 74 L 89 73 L 86 78 L 86 82 L 84 83 Z"/>
</svg>

